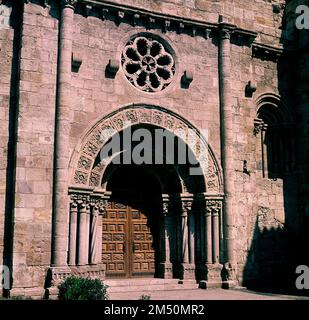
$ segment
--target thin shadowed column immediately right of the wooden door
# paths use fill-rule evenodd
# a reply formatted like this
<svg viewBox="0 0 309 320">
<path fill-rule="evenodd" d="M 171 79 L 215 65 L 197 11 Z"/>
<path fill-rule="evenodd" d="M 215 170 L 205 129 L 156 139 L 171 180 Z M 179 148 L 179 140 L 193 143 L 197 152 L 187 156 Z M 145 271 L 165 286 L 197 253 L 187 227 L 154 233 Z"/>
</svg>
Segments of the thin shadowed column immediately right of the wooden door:
<svg viewBox="0 0 309 320">
<path fill-rule="evenodd" d="M 162 262 L 160 263 L 160 276 L 165 279 L 173 278 L 173 268 L 170 260 L 170 232 L 171 232 L 171 205 L 169 203 L 169 196 L 162 196 L 163 206 L 163 226 L 162 226 L 162 237 L 163 247 L 162 250 Z"/>
</svg>

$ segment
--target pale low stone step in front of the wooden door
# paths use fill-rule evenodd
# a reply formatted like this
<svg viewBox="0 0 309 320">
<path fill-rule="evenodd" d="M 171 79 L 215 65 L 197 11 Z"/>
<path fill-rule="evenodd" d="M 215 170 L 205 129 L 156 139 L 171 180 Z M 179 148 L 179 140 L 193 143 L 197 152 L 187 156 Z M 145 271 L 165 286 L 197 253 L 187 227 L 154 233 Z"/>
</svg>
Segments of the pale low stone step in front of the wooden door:
<svg viewBox="0 0 309 320">
<path fill-rule="evenodd" d="M 179 283 L 182 282 L 182 283 Z M 138 292 L 138 291 L 170 291 L 197 289 L 196 281 L 179 281 L 177 279 L 123 279 L 105 280 L 108 292 Z"/>
</svg>

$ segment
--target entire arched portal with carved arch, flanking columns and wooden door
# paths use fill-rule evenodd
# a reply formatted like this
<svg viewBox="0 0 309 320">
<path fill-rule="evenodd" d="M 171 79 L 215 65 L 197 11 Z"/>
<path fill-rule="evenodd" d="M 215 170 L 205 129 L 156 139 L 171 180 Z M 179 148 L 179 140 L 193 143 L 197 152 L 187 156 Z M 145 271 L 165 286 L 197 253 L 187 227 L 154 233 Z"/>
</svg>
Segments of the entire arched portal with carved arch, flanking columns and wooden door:
<svg viewBox="0 0 309 320">
<path fill-rule="evenodd" d="M 127 131 L 134 134 L 140 129 L 151 139 L 158 132 L 167 134 L 167 140 L 174 141 L 169 152 L 166 147 L 158 152 L 151 145 L 150 163 L 139 164 L 126 163 L 134 152 L 122 145 L 102 155 L 114 136 L 121 142 Z M 141 141 L 132 140 L 140 147 Z M 187 151 L 178 153 L 179 146 Z M 163 162 L 156 162 L 158 158 Z M 214 279 L 220 274 L 221 170 L 201 132 L 185 119 L 156 106 L 119 109 L 85 133 L 71 168 L 71 268 L 78 272 L 90 268 L 103 278 Z"/>
</svg>

